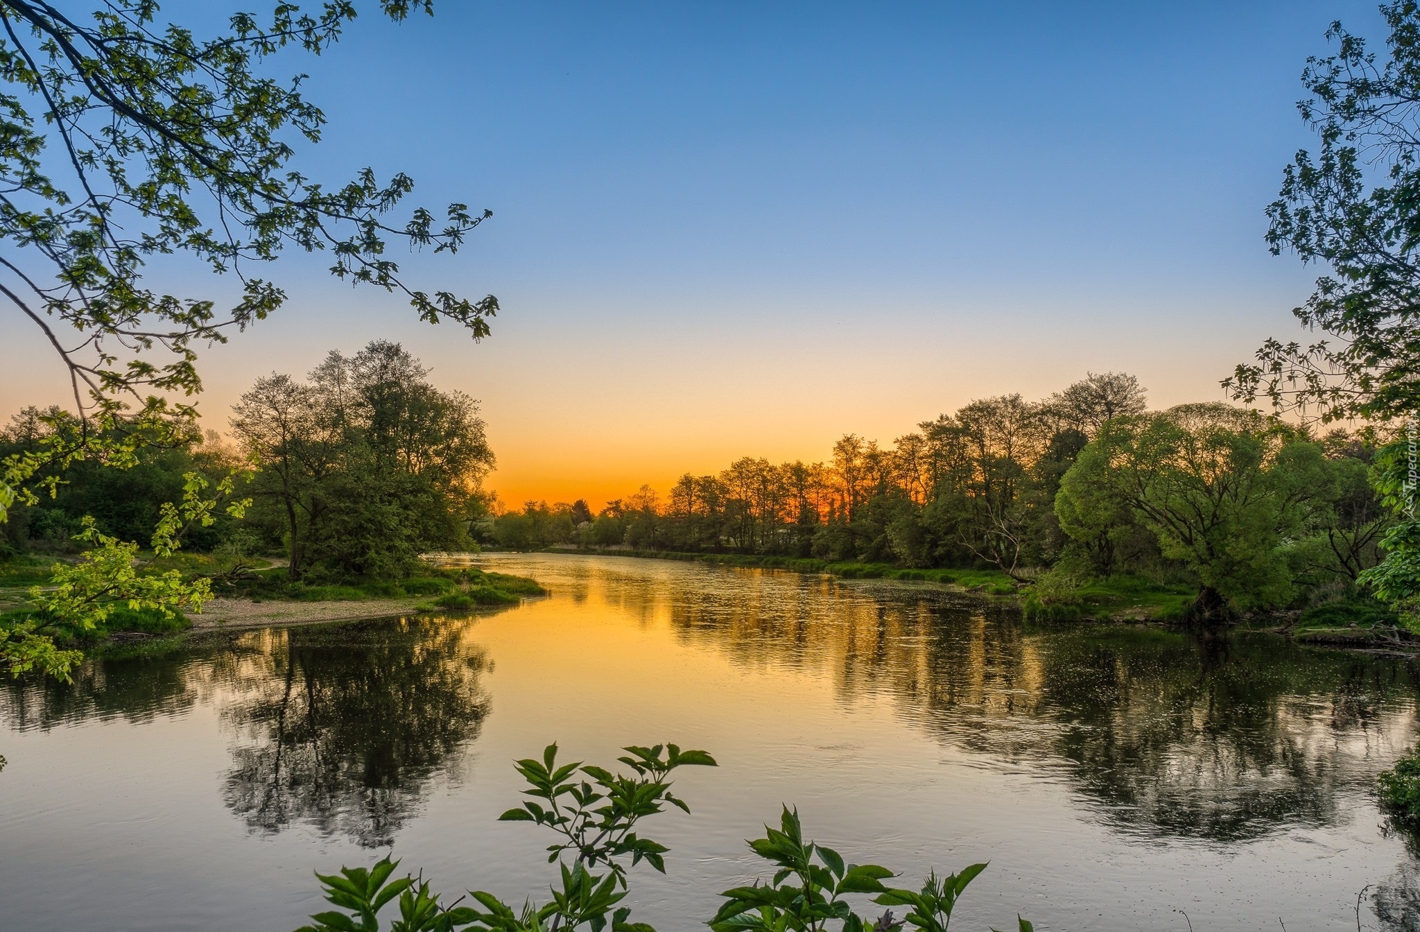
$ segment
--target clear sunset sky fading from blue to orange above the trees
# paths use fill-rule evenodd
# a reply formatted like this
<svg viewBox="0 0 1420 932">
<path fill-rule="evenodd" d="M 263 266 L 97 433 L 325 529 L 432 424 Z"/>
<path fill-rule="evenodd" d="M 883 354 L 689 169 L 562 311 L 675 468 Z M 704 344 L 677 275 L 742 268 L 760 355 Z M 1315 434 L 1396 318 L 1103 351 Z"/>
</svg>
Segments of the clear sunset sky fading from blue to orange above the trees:
<svg viewBox="0 0 1420 932">
<path fill-rule="evenodd" d="M 1298 75 L 1333 18 L 1383 37 L 1350 0 L 366 16 L 298 64 L 331 121 L 300 165 L 491 209 L 464 251 L 406 269 L 504 310 L 473 344 L 293 254 L 270 270 L 291 303 L 204 355 L 202 409 L 224 428 L 257 375 L 399 340 L 481 399 L 504 502 L 598 506 L 1086 371 L 1139 375 L 1156 406 L 1220 399 L 1298 332 L 1316 271 L 1268 254 L 1264 207 L 1311 143 Z M 0 412 L 62 401 L 36 334 L 0 317 Z"/>
</svg>

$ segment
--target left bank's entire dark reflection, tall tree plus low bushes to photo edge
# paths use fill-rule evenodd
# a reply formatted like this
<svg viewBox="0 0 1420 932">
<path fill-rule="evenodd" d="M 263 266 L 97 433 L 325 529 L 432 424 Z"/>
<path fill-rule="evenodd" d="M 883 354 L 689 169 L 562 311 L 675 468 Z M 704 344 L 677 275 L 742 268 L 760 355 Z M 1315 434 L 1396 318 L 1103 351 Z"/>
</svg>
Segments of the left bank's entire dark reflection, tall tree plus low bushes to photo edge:
<svg viewBox="0 0 1420 932">
<path fill-rule="evenodd" d="M 159 658 L 91 663 L 74 686 L 3 693 L 24 730 L 88 717 L 145 722 L 223 699 L 222 796 L 256 833 L 294 823 L 389 845 L 429 780 L 488 712 L 483 654 L 430 618 L 209 638 Z"/>
</svg>

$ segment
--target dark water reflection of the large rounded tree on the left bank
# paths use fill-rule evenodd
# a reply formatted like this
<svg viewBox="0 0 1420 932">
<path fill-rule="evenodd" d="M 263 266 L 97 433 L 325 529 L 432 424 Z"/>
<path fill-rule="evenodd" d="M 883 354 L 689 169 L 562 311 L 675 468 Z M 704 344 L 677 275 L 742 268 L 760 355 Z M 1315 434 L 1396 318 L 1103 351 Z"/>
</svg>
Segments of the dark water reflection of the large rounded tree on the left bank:
<svg viewBox="0 0 1420 932">
<path fill-rule="evenodd" d="M 488 712 L 483 655 L 432 619 L 267 632 L 267 669 L 224 710 L 224 797 L 254 831 L 304 821 L 390 844 Z"/>
</svg>

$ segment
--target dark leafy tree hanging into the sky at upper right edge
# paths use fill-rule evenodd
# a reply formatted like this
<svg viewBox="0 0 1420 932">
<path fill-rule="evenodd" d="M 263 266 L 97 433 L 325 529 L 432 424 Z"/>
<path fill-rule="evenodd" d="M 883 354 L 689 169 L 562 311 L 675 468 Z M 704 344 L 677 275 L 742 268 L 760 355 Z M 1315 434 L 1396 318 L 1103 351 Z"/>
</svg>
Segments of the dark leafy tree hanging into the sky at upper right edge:
<svg viewBox="0 0 1420 932">
<path fill-rule="evenodd" d="M 1339 21 L 1326 31 L 1336 54 L 1306 60 L 1298 111 L 1321 145 L 1296 153 L 1267 210 L 1274 254 L 1329 267 L 1292 311 L 1325 340 L 1268 340 L 1224 381 L 1235 399 L 1323 421 L 1420 411 L 1420 4 L 1380 11 L 1383 63 Z"/>
</svg>

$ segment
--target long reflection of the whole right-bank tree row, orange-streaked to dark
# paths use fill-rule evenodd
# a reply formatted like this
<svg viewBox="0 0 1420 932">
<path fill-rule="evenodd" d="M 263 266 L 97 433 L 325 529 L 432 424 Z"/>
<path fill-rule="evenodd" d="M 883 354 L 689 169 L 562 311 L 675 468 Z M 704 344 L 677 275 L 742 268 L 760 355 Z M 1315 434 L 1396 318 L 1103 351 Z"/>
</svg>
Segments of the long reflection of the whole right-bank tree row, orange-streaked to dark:
<svg viewBox="0 0 1420 932">
<path fill-rule="evenodd" d="M 1402 659 L 1260 635 L 1034 627 L 900 587 L 772 588 L 665 598 L 684 636 L 744 663 L 825 669 L 845 700 L 889 693 L 946 743 L 1062 769 L 1126 831 L 1235 841 L 1332 823 L 1339 794 L 1369 791 L 1416 719 Z"/>
</svg>

